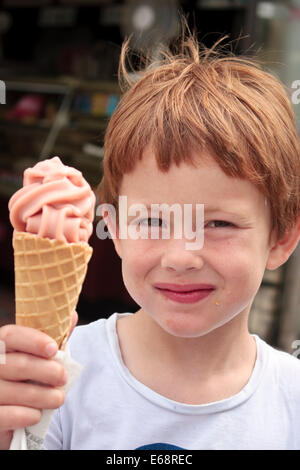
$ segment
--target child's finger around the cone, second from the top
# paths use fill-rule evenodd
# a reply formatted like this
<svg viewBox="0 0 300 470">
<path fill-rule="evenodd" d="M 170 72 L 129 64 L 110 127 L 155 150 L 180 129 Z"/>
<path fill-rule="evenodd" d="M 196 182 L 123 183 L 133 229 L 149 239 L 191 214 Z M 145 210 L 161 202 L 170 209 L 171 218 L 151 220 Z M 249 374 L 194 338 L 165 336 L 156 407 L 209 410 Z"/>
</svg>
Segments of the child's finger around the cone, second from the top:
<svg viewBox="0 0 300 470">
<path fill-rule="evenodd" d="M 32 380 L 54 387 L 65 385 L 67 376 L 62 364 L 31 354 L 11 352 L 5 364 L 0 364 L 0 378 L 10 381 Z"/>
</svg>

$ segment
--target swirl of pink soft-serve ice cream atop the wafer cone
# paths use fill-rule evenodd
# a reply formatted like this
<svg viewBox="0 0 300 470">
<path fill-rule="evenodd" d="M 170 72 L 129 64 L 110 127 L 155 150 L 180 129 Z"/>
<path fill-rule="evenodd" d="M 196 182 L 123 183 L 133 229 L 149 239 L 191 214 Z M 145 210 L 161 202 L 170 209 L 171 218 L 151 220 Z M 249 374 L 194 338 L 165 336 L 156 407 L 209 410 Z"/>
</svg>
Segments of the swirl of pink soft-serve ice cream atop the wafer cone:
<svg viewBox="0 0 300 470">
<path fill-rule="evenodd" d="M 95 200 L 82 173 L 53 157 L 25 170 L 23 187 L 8 204 L 10 221 L 20 232 L 87 243 L 93 231 Z"/>
</svg>

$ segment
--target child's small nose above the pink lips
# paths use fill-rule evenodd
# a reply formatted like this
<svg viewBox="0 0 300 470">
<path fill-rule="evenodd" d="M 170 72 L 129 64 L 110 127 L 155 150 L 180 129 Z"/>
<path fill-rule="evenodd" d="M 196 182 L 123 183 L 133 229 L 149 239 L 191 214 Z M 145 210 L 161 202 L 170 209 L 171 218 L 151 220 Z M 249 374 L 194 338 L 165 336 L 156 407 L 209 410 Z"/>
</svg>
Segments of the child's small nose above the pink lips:
<svg viewBox="0 0 300 470">
<path fill-rule="evenodd" d="M 164 269 L 184 272 L 192 269 L 201 269 L 204 265 L 199 250 L 186 249 L 185 240 L 172 240 L 161 257 L 161 266 Z"/>
</svg>

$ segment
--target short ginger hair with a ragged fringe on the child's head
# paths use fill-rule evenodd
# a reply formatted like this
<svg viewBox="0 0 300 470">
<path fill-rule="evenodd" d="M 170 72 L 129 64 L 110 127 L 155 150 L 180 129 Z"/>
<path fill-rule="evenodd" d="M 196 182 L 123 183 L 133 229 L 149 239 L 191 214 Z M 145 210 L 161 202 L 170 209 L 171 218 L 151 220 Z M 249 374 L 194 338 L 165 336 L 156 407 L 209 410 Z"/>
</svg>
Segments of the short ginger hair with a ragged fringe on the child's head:
<svg viewBox="0 0 300 470">
<path fill-rule="evenodd" d="M 220 42 L 220 41 L 219 41 Z M 229 176 L 253 183 L 267 198 L 279 238 L 300 214 L 300 145 L 283 85 L 260 64 L 218 43 L 200 46 L 191 35 L 177 52 L 162 49 L 134 78 L 126 70 L 128 41 L 120 57 L 127 91 L 108 124 L 98 202 L 118 208 L 123 175 L 134 170 L 146 146 L 168 171 L 196 165 L 191 150 L 208 149 Z"/>
</svg>

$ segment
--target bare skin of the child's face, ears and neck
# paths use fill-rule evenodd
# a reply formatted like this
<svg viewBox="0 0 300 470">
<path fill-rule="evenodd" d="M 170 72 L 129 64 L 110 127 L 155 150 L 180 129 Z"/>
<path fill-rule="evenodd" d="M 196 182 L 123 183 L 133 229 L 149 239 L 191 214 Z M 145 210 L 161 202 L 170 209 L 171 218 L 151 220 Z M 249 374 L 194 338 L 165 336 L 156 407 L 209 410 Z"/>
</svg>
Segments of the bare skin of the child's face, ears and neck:
<svg viewBox="0 0 300 470">
<path fill-rule="evenodd" d="M 118 320 L 125 365 L 154 391 L 200 404 L 229 397 L 248 382 L 256 359 L 249 311 L 265 269 L 288 259 L 300 226 L 276 240 L 264 196 L 248 181 L 225 175 L 209 154 L 193 157 L 200 162 L 197 169 L 182 164 L 162 173 L 145 149 L 136 169 L 123 177 L 120 195 L 127 196 L 128 207 L 204 204 L 203 248 L 187 250 L 184 238 L 121 239 L 107 214 L 106 222 L 124 283 L 141 306 Z M 208 283 L 215 290 L 197 303 L 180 304 L 157 291 L 156 282 Z"/>
</svg>

